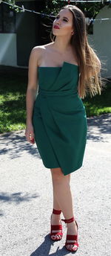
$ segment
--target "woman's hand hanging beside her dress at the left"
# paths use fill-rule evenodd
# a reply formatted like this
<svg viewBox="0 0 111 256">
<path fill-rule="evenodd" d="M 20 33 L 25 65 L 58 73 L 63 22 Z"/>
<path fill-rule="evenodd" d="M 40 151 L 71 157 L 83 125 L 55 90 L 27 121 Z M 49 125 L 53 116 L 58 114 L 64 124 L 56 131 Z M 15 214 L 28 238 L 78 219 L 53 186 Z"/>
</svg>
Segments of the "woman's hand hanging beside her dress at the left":
<svg viewBox="0 0 111 256">
<path fill-rule="evenodd" d="M 27 141 L 29 141 L 31 144 L 35 143 L 33 124 L 27 124 L 25 129 L 25 136 L 27 138 Z"/>
</svg>

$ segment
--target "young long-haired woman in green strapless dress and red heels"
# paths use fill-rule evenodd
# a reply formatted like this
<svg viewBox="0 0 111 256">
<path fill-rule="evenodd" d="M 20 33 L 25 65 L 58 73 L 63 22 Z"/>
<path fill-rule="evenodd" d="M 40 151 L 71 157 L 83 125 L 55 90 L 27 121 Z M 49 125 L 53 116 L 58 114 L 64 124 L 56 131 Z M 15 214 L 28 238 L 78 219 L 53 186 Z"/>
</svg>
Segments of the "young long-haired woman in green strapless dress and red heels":
<svg viewBox="0 0 111 256">
<path fill-rule="evenodd" d="M 87 42 L 84 13 L 74 5 L 64 6 L 53 22 L 52 42 L 33 48 L 30 54 L 25 135 L 30 143 L 36 141 L 52 175 L 50 238 L 62 238 L 62 211 L 70 252 L 78 249 L 70 173 L 81 167 L 87 139 L 81 98 L 87 92 L 101 94 L 100 70 L 100 60 Z"/>
</svg>

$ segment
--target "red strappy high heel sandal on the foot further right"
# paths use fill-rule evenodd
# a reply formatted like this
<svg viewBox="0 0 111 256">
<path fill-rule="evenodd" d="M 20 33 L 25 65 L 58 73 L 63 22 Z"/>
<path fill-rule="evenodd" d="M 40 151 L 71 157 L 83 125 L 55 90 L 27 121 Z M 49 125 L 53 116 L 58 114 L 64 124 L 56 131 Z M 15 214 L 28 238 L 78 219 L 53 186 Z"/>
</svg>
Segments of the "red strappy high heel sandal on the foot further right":
<svg viewBox="0 0 111 256">
<path fill-rule="evenodd" d="M 63 220 L 63 219 L 61 219 L 61 220 Z M 64 223 L 73 223 L 74 220 L 75 219 L 73 217 L 69 220 L 63 220 L 63 221 L 64 221 Z M 77 229 L 78 229 L 78 223 L 76 221 L 75 221 L 75 224 L 76 224 Z M 67 240 L 70 240 L 70 242 L 67 242 Z M 65 243 L 66 249 L 67 249 L 68 245 L 72 245 L 73 248 L 71 250 L 70 249 L 67 249 L 67 250 L 70 251 L 70 252 L 77 251 L 77 249 L 78 249 L 78 233 L 76 235 L 75 234 L 67 234 L 67 240 L 66 240 L 66 243 Z"/>
</svg>

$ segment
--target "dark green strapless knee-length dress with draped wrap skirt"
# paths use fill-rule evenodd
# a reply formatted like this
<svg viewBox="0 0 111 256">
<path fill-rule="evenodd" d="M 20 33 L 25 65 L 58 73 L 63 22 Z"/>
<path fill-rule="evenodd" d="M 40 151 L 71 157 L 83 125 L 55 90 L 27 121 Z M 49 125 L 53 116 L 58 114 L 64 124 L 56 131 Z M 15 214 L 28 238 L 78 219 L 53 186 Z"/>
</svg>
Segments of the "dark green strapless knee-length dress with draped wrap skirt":
<svg viewBox="0 0 111 256">
<path fill-rule="evenodd" d="M 87 117 L 78 96 L 79 67 L 38 67 L 33 127 L 38 152 L 47 168 L 64 175 L 81 167 L 87 141 Z"/>
</svg>

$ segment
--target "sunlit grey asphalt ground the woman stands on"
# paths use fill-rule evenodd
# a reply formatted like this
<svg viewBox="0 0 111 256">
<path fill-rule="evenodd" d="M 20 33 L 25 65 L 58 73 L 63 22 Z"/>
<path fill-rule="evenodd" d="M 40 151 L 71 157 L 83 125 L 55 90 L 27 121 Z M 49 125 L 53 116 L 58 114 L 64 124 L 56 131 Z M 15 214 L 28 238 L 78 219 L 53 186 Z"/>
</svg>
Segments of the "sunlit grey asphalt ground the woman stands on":
<svg viewBox="0 0 111 256">
<path fill-rule="evenodd" d="M 111 114 L 87 118 L 83 166 L 71 173 L 78 256 L 110 256 Z M 50 240 L 53 186 L 36 144 L 24 130 L 0 135 L 0 255 L 73 255 L 61 241 Z M 61 215 L 63 217 L 63 215 Z"/>
</svg>

